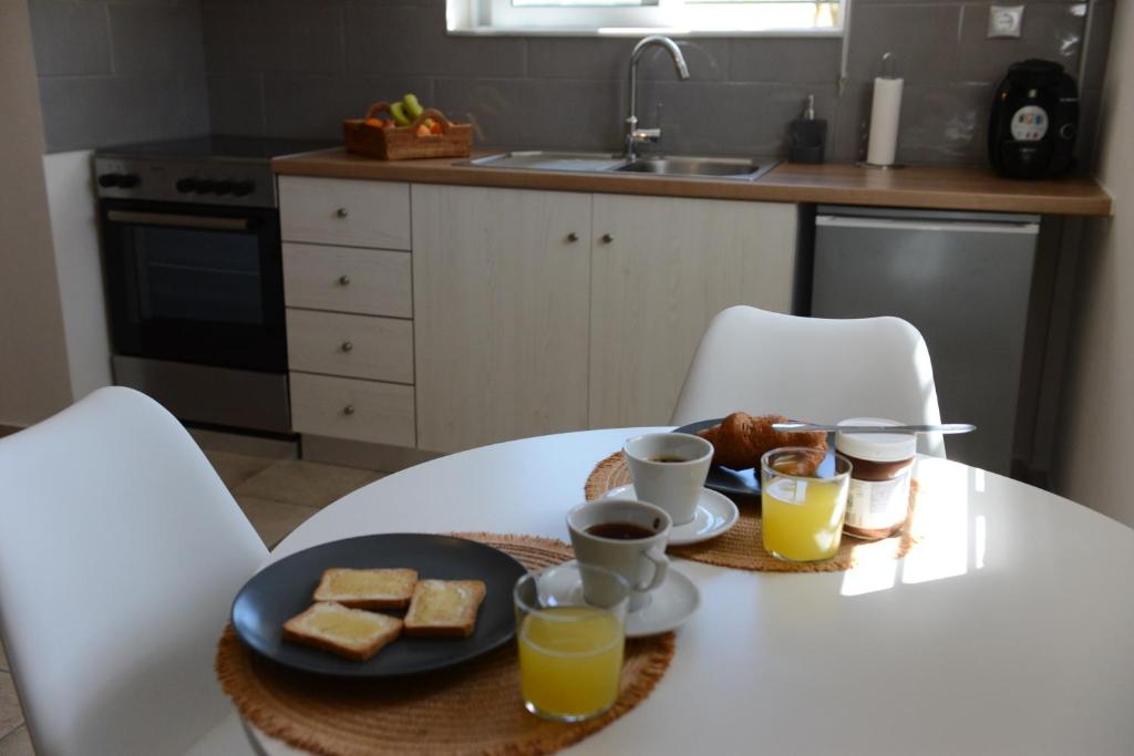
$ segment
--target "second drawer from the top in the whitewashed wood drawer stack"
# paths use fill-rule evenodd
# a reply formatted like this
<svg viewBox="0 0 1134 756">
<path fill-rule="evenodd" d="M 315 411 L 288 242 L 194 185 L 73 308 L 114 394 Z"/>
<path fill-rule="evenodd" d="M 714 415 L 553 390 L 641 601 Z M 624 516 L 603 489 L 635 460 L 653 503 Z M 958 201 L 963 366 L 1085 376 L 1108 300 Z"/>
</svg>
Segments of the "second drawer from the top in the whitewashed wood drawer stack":
<svg viewBox="0 0 1134 756">
<path fill-rule="evenodd" d="M 285 244 L 284 301 L 289 307 L 413 317 L 409 253 Z"/>
</svg>

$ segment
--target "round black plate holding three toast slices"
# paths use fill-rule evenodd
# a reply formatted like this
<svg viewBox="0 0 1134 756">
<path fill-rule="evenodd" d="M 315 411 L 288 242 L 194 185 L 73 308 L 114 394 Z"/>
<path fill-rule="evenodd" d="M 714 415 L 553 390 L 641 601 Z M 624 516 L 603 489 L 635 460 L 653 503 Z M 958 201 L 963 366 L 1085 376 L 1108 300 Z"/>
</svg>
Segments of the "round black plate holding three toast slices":
<svg viewBox="0 0 1134 756">
<path fill-rule="evenodd" d="M 311 594 L 330 567 L 408 567 L 423 579 L 483 580 L 488 591 L 476 630 L 468 638 L 403 636 L 365 662 L 284 643 L 284 622 L 311 606 Z M 256 574 L 232 602 L 232 627 L 257 653 L 305 672 L 384 678 L 439 670 L 511 639 L 516 632 L 511 591 L 526 571 L 502 551 L 450 536 L 391 533 L 333 541 L 286 557 Z"/>
</svg>

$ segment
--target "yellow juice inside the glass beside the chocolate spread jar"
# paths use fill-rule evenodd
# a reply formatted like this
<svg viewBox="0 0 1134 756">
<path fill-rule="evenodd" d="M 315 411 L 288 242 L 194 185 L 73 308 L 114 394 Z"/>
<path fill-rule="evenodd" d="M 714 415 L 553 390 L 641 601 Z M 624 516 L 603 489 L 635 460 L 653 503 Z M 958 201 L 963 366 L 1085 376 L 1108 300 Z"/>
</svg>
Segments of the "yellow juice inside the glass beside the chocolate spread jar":
<svg viewBox="0 0 1134 756">
<path fill-rule="evenodd" d="M 764 550 L 798 562 L 830 559 L 839 549 L 846 478 L 775 478 L 763 489 Z"/>
</svg>

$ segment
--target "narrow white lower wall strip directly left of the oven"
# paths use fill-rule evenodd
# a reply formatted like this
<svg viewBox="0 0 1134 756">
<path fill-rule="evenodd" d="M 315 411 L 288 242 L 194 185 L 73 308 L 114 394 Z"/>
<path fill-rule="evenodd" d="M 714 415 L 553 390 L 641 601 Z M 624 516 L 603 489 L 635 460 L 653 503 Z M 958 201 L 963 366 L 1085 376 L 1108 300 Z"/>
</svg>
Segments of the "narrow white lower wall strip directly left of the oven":
<svg viewBox="0 0 1134 756">
<path fill-rule="evenodd" d="M 71 396 L 76 400 L 111 382 L 91 154 L 78 150 L 43 158 Z"/>
</svg>

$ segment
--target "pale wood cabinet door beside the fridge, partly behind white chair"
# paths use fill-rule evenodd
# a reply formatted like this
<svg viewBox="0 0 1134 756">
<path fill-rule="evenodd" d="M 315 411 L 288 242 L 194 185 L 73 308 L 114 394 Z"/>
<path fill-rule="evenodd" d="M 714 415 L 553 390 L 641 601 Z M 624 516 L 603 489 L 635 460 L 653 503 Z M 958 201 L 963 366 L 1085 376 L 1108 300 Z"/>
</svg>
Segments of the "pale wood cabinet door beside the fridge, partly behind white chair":
<svg viewBox="0 0 1134 756">
<path fill-rule="evenodd" d="M 591 427 L 668 423 L 721 309 L 790 311 L 795 205 L 595 195 L 593 223 Z"/>
</svg>

